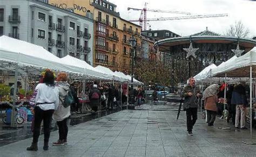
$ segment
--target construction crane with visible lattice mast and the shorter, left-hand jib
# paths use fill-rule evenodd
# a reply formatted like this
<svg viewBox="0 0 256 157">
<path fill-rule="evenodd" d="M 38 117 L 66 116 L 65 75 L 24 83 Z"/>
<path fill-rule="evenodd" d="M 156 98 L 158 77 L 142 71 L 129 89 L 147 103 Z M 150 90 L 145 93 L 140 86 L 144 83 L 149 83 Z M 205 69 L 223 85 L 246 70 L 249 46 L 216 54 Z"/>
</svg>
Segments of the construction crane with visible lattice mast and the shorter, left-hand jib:
<svg viewBox="0 0 256 157">
<path fill-rule="evenodd" d="M 144 30 L 146 30 L 146 22 L 147 20 L 147 11 L 152 11 L 152 12 L 166 12 L 166 13 L 179 13 L 179 14 L 185 14 L 185 15 L 190 15 L 190 12 L 182 12 L 182 11 L 167 11 L 167 10 L 156 10 L 156 9 L 147 9 L 147 4 L 145 3 L 143 9 L 137 9 L 137 8 L 127 8 L 127 10 L 135 10 L 135 11 L 142 11 L 140 13 L 139 20 L 136 20 L 136 22 L 139 22 L 139 25 L 143 27 L 143 22 L 144 22 Z M 144 18 L 143 18 L 144 14 Z"/>
</svg>

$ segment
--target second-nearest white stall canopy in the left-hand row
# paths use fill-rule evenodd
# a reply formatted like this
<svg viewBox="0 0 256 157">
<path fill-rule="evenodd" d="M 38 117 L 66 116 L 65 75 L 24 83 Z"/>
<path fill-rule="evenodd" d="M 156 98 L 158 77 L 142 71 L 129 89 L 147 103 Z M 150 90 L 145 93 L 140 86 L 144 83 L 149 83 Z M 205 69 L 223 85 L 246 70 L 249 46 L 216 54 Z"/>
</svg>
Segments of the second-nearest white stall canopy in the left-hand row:
<svg viewBox="0 0 256 157">
<path fill-rule="evenodd" d="M 84 69 L 84 74 L 86 76 L 89 76 L 89 79 L 99 79 L 99 80 L 111 80 L 112 76 L 111 75 L 106 75 L 102 72 L 99 72 L 98 69 L 92 67 L 88 63 L 86 63 L 83 60 L 74 58 L 70 55 L 66 55 L 64 58 L 60 59 L 65 65 L 70 65 L 70 66 L 76 66 L 79 68 Z"/>
</svg>

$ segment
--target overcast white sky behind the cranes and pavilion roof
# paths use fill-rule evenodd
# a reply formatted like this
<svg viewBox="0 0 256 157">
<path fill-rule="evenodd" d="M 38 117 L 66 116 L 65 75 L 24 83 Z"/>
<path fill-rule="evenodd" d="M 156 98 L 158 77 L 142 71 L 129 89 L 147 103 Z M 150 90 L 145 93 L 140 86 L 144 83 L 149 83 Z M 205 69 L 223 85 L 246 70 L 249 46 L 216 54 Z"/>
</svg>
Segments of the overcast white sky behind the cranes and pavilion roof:
<svg viewBox="0 0 256 157">
<path fill-rule="evenodd" d="M 147 22 L 147 29 L 151 25 L 152 30 L 170 30 L 179 35 L 191 35 L 201 31 L 208 30 L 223 34 L 226 29 L 241 20 L 249 28 L 249 37 L 256 36 L 256 2 L 244 0 L 109 0 L 117 5 L 117 11 L 122 18 L 139 19 L 140 11 L 127 11 L 130 8 L 144 8 L 147 2 L 148 9 L 173 10 L 191 12 L 192 15 L 228 13 L 228 17 L 215 17 L 204 19 L 186 19 L 186 20 L 165 20 L 157 22 Z M 147 12 L 147 18 L 157 17 L 177 17 L 184 16 L 173 13 L 154 13 Z M 139 23 L 137 23 L 139 24 Z"/>
</svg>

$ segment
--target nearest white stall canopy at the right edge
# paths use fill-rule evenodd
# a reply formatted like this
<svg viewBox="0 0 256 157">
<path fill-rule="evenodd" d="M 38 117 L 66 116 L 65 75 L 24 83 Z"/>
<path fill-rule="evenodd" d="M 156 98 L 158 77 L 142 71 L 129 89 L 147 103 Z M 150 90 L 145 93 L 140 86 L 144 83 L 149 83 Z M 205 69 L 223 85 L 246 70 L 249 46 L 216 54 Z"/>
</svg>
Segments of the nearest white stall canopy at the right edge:
<svg viewBox="0 0 256 157">
<path fill-rule="evenodd" d="M 227 68 L 215 76 L 224 77 L 226 73 L 228 77 L 250 77 L 251 66 L 252 77 L 256 77 L 256 47 L 226 65 Z"/>
</svg>

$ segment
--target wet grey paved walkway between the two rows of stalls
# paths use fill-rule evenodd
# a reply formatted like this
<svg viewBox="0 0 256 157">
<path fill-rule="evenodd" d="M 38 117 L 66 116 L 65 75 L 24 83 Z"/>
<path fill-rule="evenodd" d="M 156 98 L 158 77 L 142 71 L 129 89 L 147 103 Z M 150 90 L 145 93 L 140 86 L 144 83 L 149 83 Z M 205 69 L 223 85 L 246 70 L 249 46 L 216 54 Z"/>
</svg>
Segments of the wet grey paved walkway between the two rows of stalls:
<svg viewBox="0 0 256 157">
<path fill-rule="evenodd" d="M 178 105 L 144 104 L 115 112 L 70 126 L 68 145 L 43 151 L 41 135 L 37 152 L 25 151 L 29 138 L 0 147 L 0 156 L 255 156 L 255 145 L 242 144 L 249 140 L 250 130 L 235 130 L 223 119 L 207 126 L 199 112 L 194 135 L 187 135 L 184 111 L 176 121 Z M 57 139 L 58 132 L 52 132 L 50 142 Z"/>
</svg>

